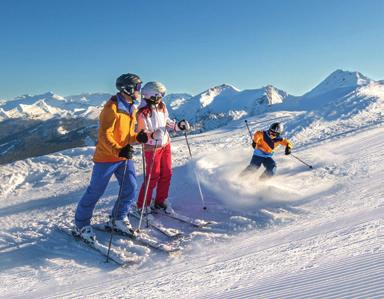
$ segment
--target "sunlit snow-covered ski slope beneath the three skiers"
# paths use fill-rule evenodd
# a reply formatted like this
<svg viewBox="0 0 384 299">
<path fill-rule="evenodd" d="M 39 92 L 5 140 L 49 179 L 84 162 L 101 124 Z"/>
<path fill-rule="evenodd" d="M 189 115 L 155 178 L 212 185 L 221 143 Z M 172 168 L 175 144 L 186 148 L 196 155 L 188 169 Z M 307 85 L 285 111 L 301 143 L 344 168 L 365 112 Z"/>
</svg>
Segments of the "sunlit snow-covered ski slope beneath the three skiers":
<svg viewBox="0 0 384 299">
<path fill-rule="evenodd" d="M 0 297 L 383 298 L 382 120 L 356 121 L 350 130 L 343 126 L 350 119 L 337 126 L 323 119 L 305 134 L 297 132 L 306 117 L 280 111 L 248 119 L 252 131 L 271 119 L 284 121 L 294 153 L 314 167 L 281 150 L 278 175 L 269 181 L 257 179 L 261 171 L 238 176 L 252 155 L 243 121 L 190 136 L 193 161 L 184 137 L 174 138 L 170 200 L 175 210 L 216 224 L 195 230 L 161 218 L 190 237 L 172 256 L 115 237 L 114 248 L 142 257 L 128 268 L 106 264 L 56 228 L 72 222 L 89 181 L 93 147 L 0 166 Z M 319 136 L 319 127 L 327 126 L 327 138 L 324 130 Z M 138 148 L 139 183 L 140 155 Z M 113 180 L 95 220 L 106 219 L 117 192 Z M 98 239 L 106 243 L 108 236 L 99 233 Z"/>
</svg>

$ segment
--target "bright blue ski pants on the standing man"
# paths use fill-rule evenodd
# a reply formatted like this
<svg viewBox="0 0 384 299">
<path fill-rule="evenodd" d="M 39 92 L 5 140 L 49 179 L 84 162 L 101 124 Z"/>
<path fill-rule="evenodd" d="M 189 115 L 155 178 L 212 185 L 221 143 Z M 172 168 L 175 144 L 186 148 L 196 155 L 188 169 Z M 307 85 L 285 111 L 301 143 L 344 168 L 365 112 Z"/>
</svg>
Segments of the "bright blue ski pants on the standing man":
<svg viewBox="0 0 384 299">
<path fill-rule="evenodd" d="M 123 178 L 125 163 L 127 163 L 127 168 L 125 177 Z M 76 209 L 75 224 L 79 229 L 86 225 L 90 225 L 96 203 L 107 188 L 112 174 L 116 176 L 121 188 L 120 199 L 116 200 L 112 215 L 115 216 L 115 219 L 123 219 L 127 216 L 128 209 L 136 197 L 137 189 L 133 161 L 126 160 L 112 163 L 95 162 L 92 170 L 91 182 L 83 197 L 80 199 Z M 122 183 L 123 186 L 121 186 Z"/>
</svg>

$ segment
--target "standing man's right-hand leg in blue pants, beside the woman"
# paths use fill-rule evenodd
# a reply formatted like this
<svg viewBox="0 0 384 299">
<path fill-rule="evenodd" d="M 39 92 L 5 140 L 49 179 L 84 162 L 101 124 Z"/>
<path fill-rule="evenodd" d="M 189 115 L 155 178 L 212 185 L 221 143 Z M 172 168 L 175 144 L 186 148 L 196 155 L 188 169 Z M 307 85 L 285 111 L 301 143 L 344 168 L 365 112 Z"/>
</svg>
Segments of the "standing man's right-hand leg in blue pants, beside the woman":
<svg viewBox="0 0 384 299">
<path fill-rule="evenodd" d="M 119 165 L 115 170 L 115 176 L 119 182 L 120 188 L 122 188 L 120 199 L 116 200 L 112 210 L 112 215 L 115 215 L 116 220 L 124 219 L 125 216 L 127 216 L 128 209 L 136 197 L 137 181 L 135 166 L 132 160 L 128 160 L 126 163 L 127 169 L 125 171 L 124 179 L 124 163 Z M 123 184 L 123 186 L 121 186 L 121 184 Z"/>
</svg>

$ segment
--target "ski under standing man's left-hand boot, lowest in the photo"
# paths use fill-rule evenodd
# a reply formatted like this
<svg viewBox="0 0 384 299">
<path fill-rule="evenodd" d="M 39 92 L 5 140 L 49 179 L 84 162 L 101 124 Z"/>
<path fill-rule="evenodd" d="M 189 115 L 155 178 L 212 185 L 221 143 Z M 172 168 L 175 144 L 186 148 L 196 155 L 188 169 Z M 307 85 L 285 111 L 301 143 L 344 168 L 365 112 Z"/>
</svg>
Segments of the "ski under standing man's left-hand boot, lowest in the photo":
<svg viewBox="0 0 384 299">
<path fill-rule="evenodd" d="M 89 249 L 97 251 L 98 253 L 100 253 L 104 257 L 108 256 L 108 247 L 105 246 L 104 244 L 100 243 L 99 241 L 96 240 L 93 244 L 86 242 L 80 236 L 78 236 L 74 230 L 72 230 L 69 227 L 58 226 L 58 229 L 61 232 L 71 236 L 76 242 L 78 242 L 82 246 L 86 246 Z M 127 257 L 121 253 L 116 252 L 113 249 L 111 249 L 109 251 L 108 258 L 120 266 L 128 266 L 131 264 L 137 264 L 137 263 L 141 262 L 141 260 L 142 260 L 139 256 L 137 256 L 135 254 L 131 254 L 130 257 Z"/>
</svg>

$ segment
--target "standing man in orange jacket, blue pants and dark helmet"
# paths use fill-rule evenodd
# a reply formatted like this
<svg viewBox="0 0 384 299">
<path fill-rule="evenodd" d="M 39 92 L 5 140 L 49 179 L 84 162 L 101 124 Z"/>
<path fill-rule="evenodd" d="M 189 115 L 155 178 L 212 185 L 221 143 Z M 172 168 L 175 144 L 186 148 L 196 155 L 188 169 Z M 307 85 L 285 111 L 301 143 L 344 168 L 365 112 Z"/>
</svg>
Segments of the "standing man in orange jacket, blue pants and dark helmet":
<svg viewBox="0 0 384 299">
<path fill-rule="evenodd" d="M 116 80 L 119 92 L 104 105 L 99 117 L 99 132 L 91 182 L 77 205 L 75 225 L 77 234 L 86 242 L 93 243 L 91 218 L 97 201 L 103 195 L 114 174 L 120 185 L 109 225 L 123 232 L 131 232 L 127 214 L 136 196 L 137 182 L 132 144 L 146 143 L 147 133 L 135 133 L 136 108 L 141 79 L 135 74 L 123 74 Z"/>
</svg>

